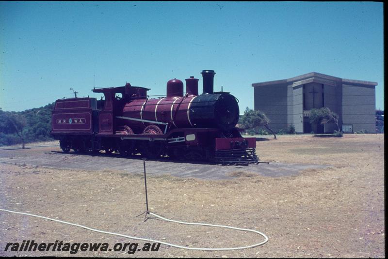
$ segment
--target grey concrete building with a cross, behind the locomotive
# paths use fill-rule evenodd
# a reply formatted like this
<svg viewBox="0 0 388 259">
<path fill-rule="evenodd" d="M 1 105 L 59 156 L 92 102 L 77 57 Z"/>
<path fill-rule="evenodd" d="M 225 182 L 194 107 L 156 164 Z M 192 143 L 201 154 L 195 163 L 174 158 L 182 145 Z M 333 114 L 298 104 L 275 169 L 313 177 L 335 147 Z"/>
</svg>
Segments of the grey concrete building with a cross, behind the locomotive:
<svg viewBox="0 0 388 259">
<path fill-rule="evenodd" d="M 312 108 L 328 107 L 339 115 L 343 132 L 375 132 L 376 82 L 311 72 L 288 79 L 253 83 L 255 110 L 263 111 L 275 131 L 293 124 L 299 133 L 332 133 L 334 124 L 311 125 Z"/>
</svg>

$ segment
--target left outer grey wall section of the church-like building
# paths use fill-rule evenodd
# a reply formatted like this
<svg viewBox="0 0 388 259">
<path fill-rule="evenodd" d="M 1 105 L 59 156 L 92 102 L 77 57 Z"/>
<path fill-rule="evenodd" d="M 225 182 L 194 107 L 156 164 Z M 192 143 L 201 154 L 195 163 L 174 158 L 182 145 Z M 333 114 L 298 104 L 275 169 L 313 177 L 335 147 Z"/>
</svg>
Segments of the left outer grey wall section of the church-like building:
<svg viewBox="0 0 388 259">
<path fill-rule="evenodd" d="M 260 110 L 271 120 L 275 132 L 287 128 L 287 85 L 255 87 L 255 110 Z"/>
</svg>

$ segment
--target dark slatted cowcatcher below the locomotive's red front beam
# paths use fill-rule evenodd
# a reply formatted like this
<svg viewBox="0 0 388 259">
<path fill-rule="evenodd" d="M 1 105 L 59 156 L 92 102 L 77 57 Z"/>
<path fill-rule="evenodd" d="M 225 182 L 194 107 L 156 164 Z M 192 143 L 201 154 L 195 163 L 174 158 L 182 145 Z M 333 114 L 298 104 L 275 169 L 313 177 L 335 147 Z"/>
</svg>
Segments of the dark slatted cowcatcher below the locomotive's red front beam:
<svg viewBox="0 0 388 259">
<path fill-rule="evenodd" d="M 259 162 L 255 148 L 217 150 L 215 160 L 222 164 L 257 164 Z"/>
</svg>

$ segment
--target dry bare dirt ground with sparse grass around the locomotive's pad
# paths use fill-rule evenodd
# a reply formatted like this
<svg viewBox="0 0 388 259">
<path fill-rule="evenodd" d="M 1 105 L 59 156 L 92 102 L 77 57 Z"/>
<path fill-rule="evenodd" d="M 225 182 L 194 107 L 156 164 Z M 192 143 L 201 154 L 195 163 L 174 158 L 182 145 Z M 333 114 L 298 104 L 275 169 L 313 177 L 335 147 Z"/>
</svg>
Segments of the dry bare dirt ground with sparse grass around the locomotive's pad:
<svg viewBox="0 0 388 259">
<path fill-rule="evenodd" d="M 267 244 L 216 252 L 162 245 L 158 252 L 137 252 L 131 256 L 385 257 L 383 135 L 280 136 L 277 140 L 257 142 L 257 152 L 263 161 L 331 166 L 281 177 L 235 171 L 235 178 L 225 180 L 150 174 L 148 198 L 150 210 L 165 217 L 256 229 L 269 237 Z M 136 172 L 1 163 L 0 208 L 195 247 L 244 246 L 262 240 L 253 233 L 230 229 L 178 225 L 156 219 L 143 222 L 142 216 L 135 217 L 145 211 L 144 179 L 139 174 L 142 170 L 139 166 L 130 170 Z M 47 243 L 106 242 L 112 246 L 118 242 L 144 244 L 0 212 L 0 255 L 72 256 L 51 251 L 4 252 L 6 243 L 29 239 Z M 75 256 L 129 255 L 111 251 L 79 252 Z"/>
</svg>

